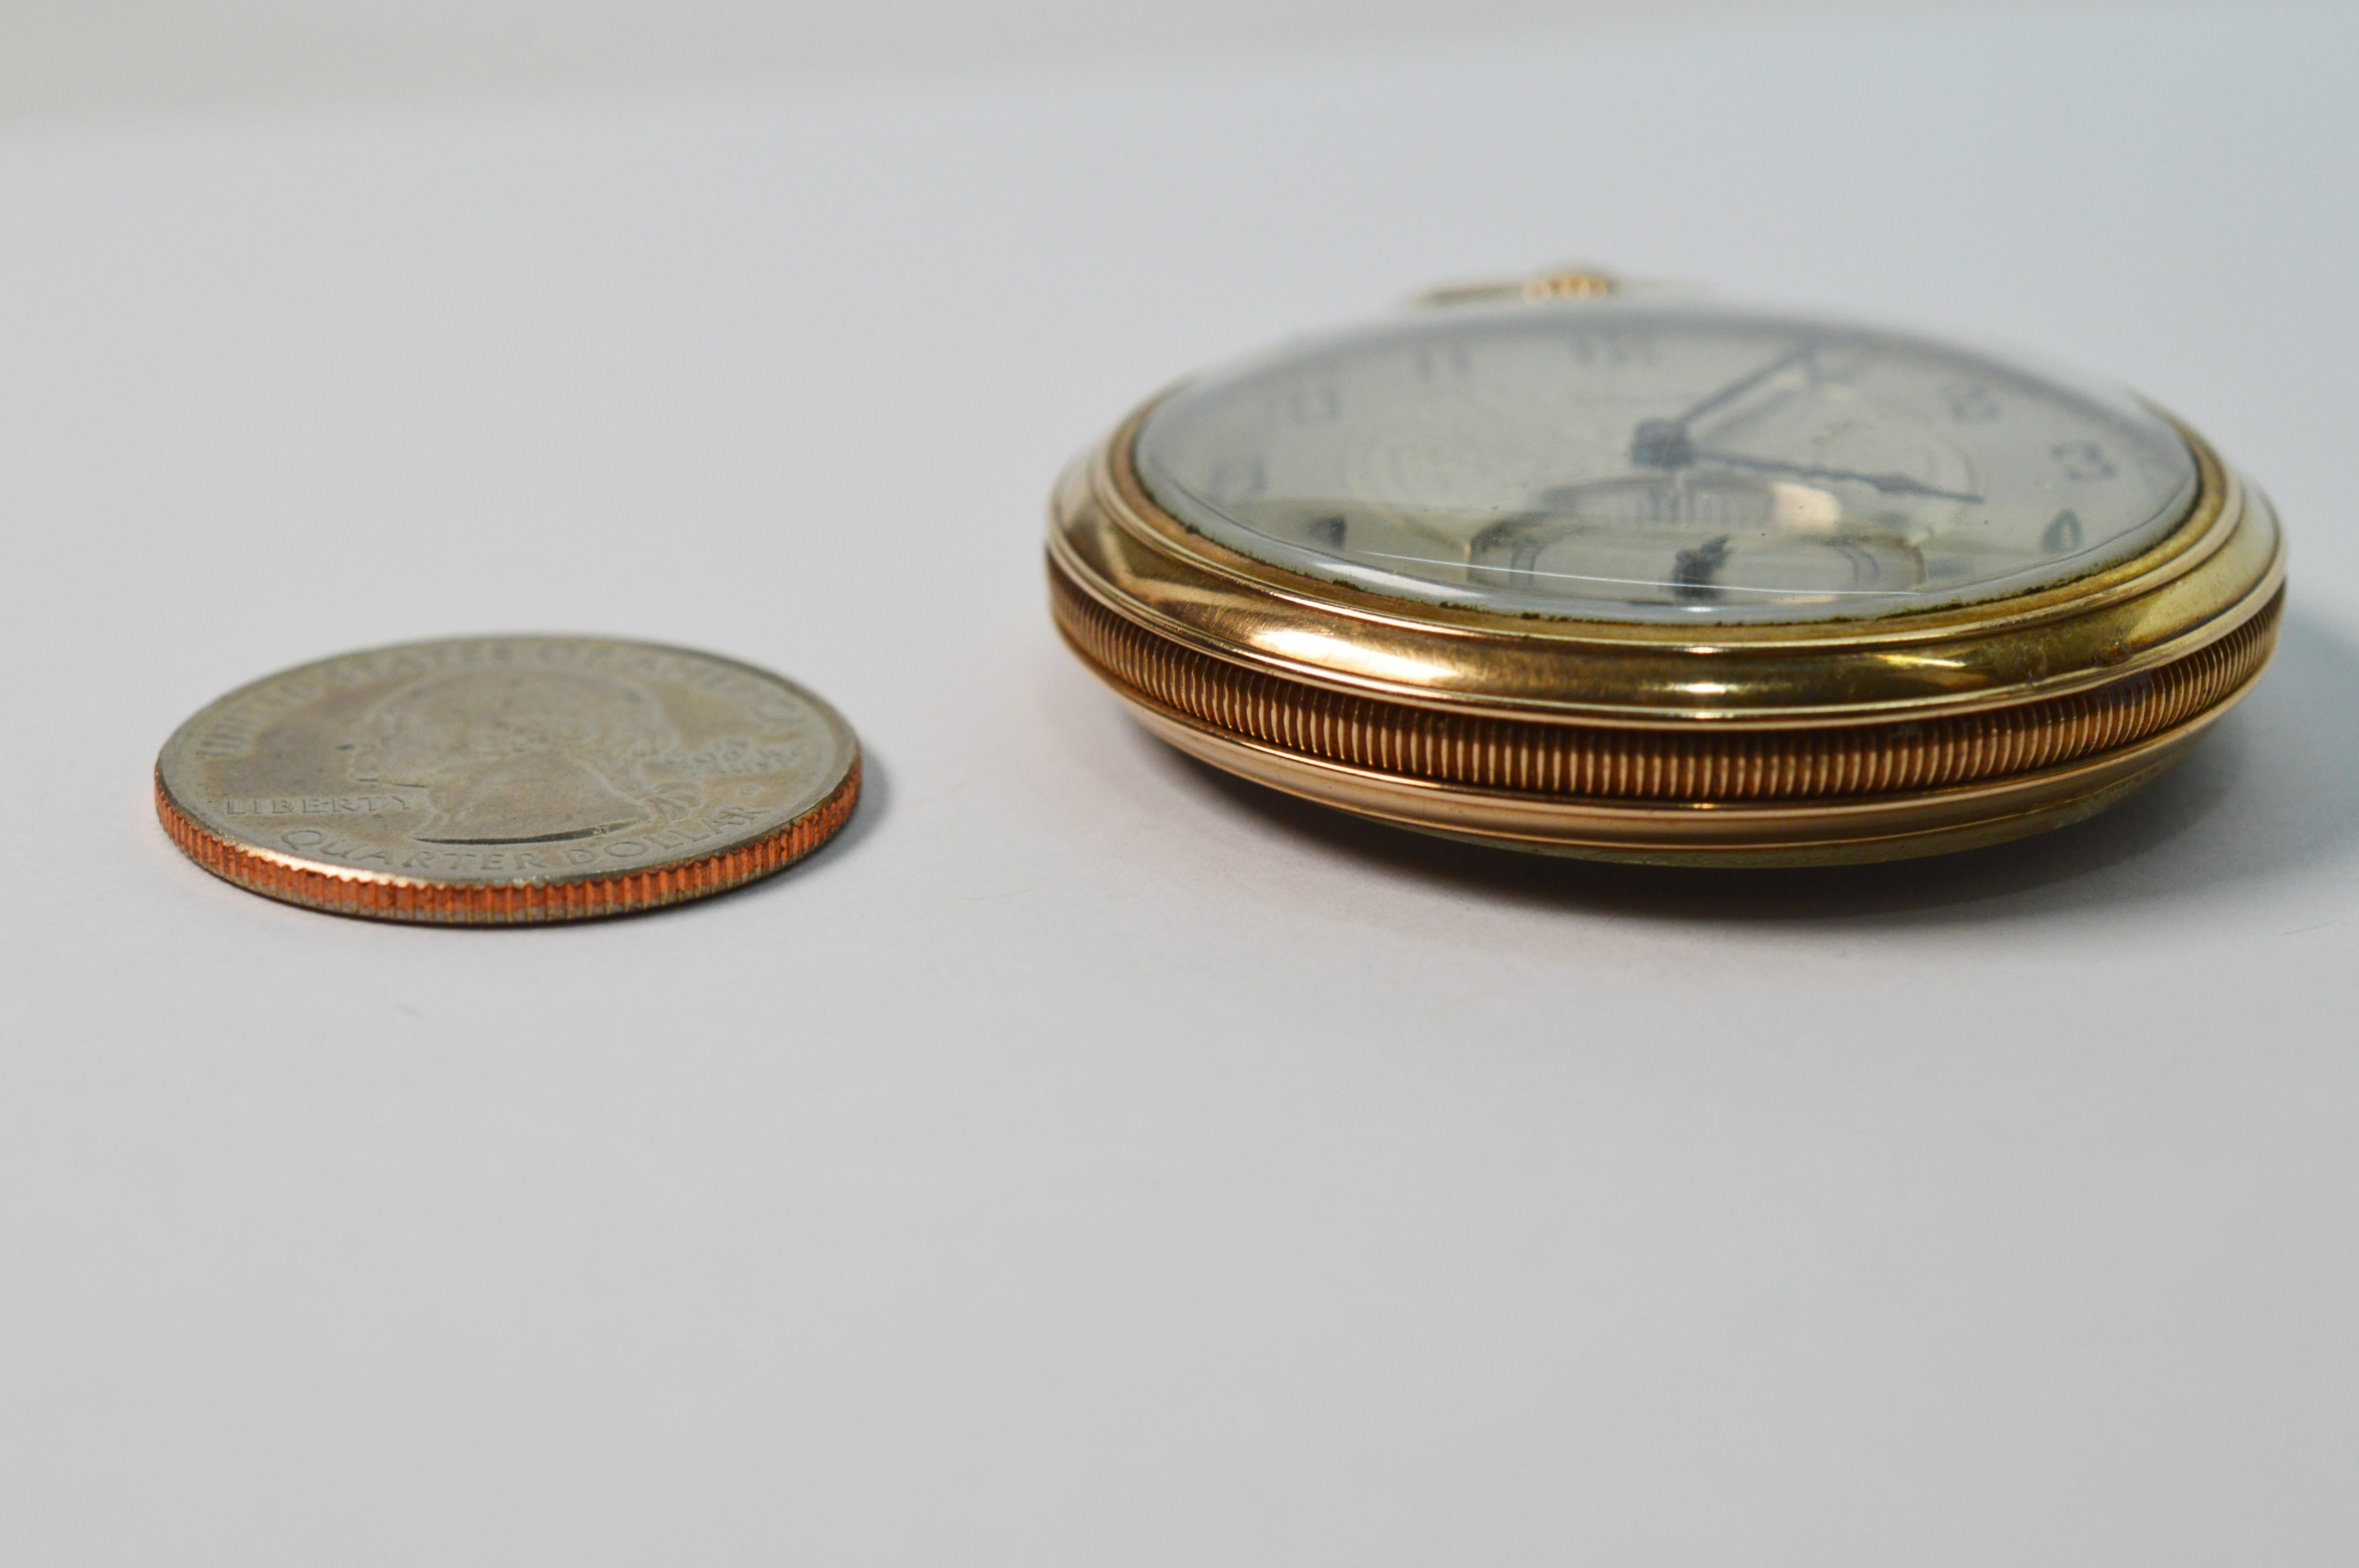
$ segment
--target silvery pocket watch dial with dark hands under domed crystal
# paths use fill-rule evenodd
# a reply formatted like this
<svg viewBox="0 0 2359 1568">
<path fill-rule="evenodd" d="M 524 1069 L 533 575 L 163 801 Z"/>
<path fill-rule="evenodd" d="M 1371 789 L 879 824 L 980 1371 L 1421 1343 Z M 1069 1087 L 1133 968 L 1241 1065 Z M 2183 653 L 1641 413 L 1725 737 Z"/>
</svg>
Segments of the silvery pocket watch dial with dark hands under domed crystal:
<svg viewBox="0 0 2359 1568">
<path fill-rule="evenodd" d="M 1583 620 L 1831 620 L 2123 561 L 2196 495 L 2128 394 L 1708 304 L 1456 307 L 1203 375 L 1149 495 L 1272 566 Z"/>
</svg>

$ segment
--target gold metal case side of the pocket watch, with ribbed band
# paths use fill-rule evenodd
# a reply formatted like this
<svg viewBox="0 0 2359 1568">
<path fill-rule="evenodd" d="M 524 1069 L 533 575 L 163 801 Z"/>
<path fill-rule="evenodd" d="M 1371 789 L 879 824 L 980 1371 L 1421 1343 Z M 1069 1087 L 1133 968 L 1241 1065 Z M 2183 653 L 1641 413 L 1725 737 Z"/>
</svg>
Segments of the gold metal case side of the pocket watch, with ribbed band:
<svg viewBox="0 0 2359 1568">
<path fill-rule="evenodd" d="M 2184 427 L 2184 521 L 2012 599 L 1807 625 L 1640 625 L 1385 599 L 1182 526 L 1146 413 L 1059 481 L 1052 608 L 1151 731 L 1279 790 L 1552 854 L 1776 865 L 1967 849 L 2156 778 L 2260 677 L 2284 538 Z"/>
</svg>

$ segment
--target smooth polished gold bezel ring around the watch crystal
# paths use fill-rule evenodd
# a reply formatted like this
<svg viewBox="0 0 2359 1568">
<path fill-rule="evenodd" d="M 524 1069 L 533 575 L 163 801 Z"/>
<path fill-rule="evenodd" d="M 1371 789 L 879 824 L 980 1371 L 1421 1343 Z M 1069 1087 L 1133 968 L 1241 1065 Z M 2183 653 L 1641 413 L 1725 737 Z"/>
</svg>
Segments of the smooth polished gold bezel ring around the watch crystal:
<svg viewBox="0 0 2359 1568">
<path fill-rule="evenodd" d="M 1661 625 L 1392 599 L 1196 533 L 1139 481 L 1139 406 L 1066 469 L 1050 554 L 1137 625 L 1236 665 L 1392 703 L 1630 726 L 1814 726 L 2012 705 L 2184 658 L 2284 580 L 2267 500 L 2184 422 L 2180 523 L 2118 566 L 2005 599 L 1819 622 Z"/>
</svg>

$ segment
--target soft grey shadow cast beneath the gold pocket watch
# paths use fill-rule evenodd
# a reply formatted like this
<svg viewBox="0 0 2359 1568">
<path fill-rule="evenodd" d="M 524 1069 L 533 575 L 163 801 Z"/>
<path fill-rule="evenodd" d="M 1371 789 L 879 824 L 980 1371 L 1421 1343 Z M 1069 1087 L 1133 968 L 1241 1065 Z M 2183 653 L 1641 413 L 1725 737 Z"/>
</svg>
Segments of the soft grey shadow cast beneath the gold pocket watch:
<svg viewBox="0 0 2359 1568">
<path fill-rule="evenodd" d="M 1880 865 L 1724 870 L 1484 849 L 1371 823 L 1165 750 L 1194 785 L 1387 875 L 1510 903 L 1656 920 L 2012 920 L 2199 901 L 2359 846 L 2359 648 L 2288 613 L 2260 686 L 2177 769 L 2097 818 Z"/>
</svg>

